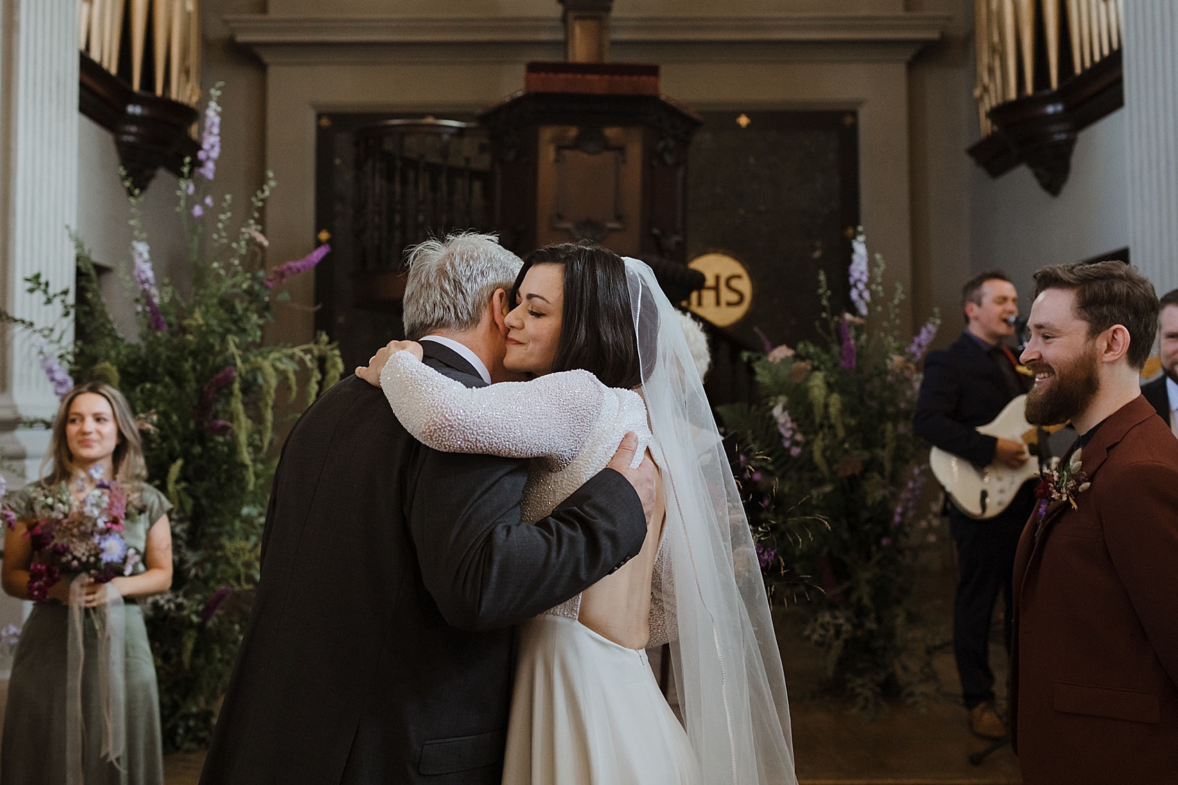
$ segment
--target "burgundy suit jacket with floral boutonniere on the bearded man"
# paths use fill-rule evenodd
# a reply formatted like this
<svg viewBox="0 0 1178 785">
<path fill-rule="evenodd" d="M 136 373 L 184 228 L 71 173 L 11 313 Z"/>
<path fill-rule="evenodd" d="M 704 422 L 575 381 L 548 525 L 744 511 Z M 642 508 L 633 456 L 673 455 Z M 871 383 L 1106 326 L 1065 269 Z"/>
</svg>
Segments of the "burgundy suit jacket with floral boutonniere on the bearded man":
<svg viewBox="0 0 1178 785">
<path fill-rule="evenodd" d="M 1014 559 L 1023 781 L 1178 783 L 1178 440 L 1138 397 L 1080 457 L 1091 487 L 1032 514 Z"/>
</svg>

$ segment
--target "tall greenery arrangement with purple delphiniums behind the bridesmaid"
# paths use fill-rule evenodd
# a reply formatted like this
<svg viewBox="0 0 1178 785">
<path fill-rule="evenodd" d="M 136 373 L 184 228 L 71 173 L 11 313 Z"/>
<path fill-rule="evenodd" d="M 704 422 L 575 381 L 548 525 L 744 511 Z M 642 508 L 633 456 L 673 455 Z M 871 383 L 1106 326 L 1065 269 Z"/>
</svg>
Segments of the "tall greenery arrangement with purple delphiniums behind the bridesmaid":
<svg viewBox="0 0 1178 785">
<path fill-rule="evenodd" d="M 325 335 L 298 347 L 263 342 L 273 305 L 286 297 L 282 282 L 313 269 L 330 248 L 264 264 L 269 243 L 259 216 L 272 177 L 233 225 L 232 194 L 218 199 L 213 192 L 219 95 L 218 85 L 204 113 L 197 167 L 186 170 L 176 191 L 192 278 L 184 291 L 191 295 L 157 275 L 135 193 L 126 281 L 134 288 L 138 335 L 120 335 L 111 321 L 80 242 L 74 301 L 39 276 L 27 279 L 31 292 L 60 306 L 61 323 L 45 326 L 0 314 L 38 339 L 59 395 L 73 380 L 100 378 L 118 387 L 138 413 L 148 481 L 173 504 L 172 591 L 144 603 L 168 751 L 207 741 L 229 684 L 258 580 L 276 434 L 343 372 L 343 358 Z M 77 324 L 72 343 L 61 337 L 70 319 Z"/>
</svg>

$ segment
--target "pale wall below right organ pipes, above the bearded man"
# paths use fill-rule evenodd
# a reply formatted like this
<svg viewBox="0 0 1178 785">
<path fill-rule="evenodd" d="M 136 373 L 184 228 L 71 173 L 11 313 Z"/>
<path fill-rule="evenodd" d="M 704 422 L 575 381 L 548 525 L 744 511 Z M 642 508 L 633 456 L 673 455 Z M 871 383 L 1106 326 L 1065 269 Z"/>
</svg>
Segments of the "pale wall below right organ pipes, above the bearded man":
<svg viewBox="0 0 1178 785">
<path fill-rule="evenodd" d="M 1005 270 L 1026 314 L 1031 276 L 1039 268 L 1127 246 L 1126 144 L 1125 110 L 1081 131 L 1071 176 L 1058 197 L 1044 191 L 1026 166 L 998 179 L 974 166 L 969 185 L 972 271 Z"/>
</svg>

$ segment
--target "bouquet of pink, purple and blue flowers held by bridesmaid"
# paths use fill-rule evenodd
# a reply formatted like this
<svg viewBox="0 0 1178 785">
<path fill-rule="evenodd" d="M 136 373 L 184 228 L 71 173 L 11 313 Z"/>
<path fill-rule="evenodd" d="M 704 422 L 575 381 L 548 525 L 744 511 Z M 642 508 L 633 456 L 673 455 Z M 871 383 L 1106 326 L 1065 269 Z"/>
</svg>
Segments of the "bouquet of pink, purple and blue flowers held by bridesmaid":
<svg viewBox="0 0 1178 785">
<path fill-rule="evenodd" d="M 28 529 L 33 563 L 28 568 L 28 595 L 34 602 L 48 599 L 48 589 L 62 573 L 85 573 L 98 583 L 130 575 L 141 555 L 123 537 L 127 495 L 117 481 L 91 476 L 95 486 L 74 501 L 65 483 L 55 490 L 34 492 L 32 510 L 37 521 Z"/>
</svg>

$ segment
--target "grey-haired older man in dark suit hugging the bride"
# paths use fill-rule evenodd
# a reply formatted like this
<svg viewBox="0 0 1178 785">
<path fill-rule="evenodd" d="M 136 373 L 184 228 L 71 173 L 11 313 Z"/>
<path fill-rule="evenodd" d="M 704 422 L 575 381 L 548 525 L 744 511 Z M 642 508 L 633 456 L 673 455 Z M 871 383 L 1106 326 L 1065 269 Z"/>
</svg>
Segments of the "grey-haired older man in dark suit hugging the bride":
<svg viewBox="0 0 1178 785">
<path fill-rule="evenodd" d="M 505 378 L 519 259 L 487 235 L 410 253 L 405 332 L 469 387 Z M 274 475 L 262 580 L 200 781 L 498 784 L 511 626 L 638 552 L 649 460 L 610 466 L 536 525 L 525 461 L 415 441 L 355 376 L 296 423 Z"/>
</svg>

